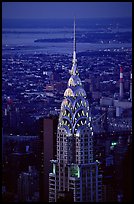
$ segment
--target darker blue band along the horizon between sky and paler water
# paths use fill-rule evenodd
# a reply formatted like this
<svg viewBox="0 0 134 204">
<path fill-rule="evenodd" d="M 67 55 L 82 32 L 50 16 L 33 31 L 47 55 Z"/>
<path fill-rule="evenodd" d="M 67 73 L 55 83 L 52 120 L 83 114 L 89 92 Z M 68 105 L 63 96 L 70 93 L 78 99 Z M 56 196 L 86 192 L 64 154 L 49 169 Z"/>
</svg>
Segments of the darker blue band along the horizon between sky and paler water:
<svg viewBox="0 0 134 204">
<path fill-rule="evenodd" d="M 80 28 L 96 28 L 101 26 L 116 26 L 132 28 L 131 18 L 109 18 L 109 19 L 76 19 L 76 25 Z M 3 19 L 3 28 L 72 28 L 73 19 Z"/>
</svg>

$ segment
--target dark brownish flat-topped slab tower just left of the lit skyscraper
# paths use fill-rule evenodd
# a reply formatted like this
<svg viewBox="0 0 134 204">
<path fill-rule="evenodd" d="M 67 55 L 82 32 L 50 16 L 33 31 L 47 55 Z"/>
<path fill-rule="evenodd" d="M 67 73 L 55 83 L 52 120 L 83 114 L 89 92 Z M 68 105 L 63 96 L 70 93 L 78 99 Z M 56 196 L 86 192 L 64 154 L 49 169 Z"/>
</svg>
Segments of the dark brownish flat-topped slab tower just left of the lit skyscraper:
<svg viewBox="0 0 134 204">
<path fill-rule="evenodd" d="M 56 134 L 58 117 L 50 116 L 39 119 L 40 128 L 40 153 L 39 153 L 39 185 L 40 201 L 49 200 L 49 172 L 51 171 L 50 160 L 56 158 Z"/>
</svg>

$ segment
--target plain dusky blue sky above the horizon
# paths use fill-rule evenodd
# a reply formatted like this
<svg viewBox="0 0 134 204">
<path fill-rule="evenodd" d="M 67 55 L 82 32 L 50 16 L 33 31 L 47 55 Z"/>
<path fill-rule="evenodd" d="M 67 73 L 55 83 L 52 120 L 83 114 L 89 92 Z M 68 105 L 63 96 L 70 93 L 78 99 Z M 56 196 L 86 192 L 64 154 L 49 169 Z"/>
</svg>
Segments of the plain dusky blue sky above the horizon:
<svg viewBox="0 0 134 204">
<path fill-rule="evenodd" d="M 132 2 L 3 2 L 2 18 L 132 17 Z"/>
</svg>

